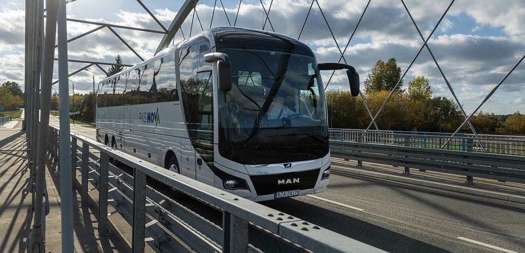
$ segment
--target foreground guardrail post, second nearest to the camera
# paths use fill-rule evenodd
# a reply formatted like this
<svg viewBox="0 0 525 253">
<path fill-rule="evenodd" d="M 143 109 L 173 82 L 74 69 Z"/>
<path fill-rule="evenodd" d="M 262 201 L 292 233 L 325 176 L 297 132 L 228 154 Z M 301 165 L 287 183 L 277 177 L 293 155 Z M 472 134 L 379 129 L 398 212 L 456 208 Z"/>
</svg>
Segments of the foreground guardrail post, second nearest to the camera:
<svg viewBox="0 0 525 253">
<path fill-rule="evenodd" d="M 144 252 L 146 216 L 146 173 L 134 169 L 133 172 L 133 253 Z M 223 251 L 224 252 L 224 251 Z"/>
</svg>

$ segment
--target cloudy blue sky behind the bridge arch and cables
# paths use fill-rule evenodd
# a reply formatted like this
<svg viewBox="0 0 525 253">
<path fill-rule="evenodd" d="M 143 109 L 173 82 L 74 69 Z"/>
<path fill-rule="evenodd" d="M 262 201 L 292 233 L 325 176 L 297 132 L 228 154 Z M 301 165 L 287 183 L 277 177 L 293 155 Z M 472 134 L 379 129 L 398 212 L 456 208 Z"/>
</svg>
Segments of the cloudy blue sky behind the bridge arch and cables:
<svg viewBox="0 0 525 253">
<path fill-rule="evenodd" d="M 142 2 L 167 28 L 184 1 Z M 217 7 L 214 10 L 215 2 Z M 264 0 L 264 9 L 270 10 L 268 19 L 259 0 L 240 2 L 239 8 L 238 0 L 223 0 L 226 9 L 223 10 L 221 1 L 199 1 L 196 15 L 193 12 L 188 15 L 182 33 L 178 31 L 175 40 L 188 38 L 209 27 L 235 24 L 299 38 L 312 48 L 319 62 L 337 62 L 341 56 L 340 51 L 345 49 L 369 1 L 317 0 L 312 5 L 312 0 Z M 406 0 L 404 3 L 426 39 L 450 1 Z M 163 29 L 134 0 L 77 0 L 67 5 L 67 16 L 92 22 L 152 30 Z M 25 1 L 0 0 L 0 83 L 15 81 L 22 88 L 24 22 Z M 68 38 L 98 27 L 77 22 L 68 22 L 67 26 Z M 160 34 L 145 31 L 120 28 L 114 30 L 144 59 L 153 56 L 162 38 Z M 377 60 L 387 61 L 394 57 L 402 73 L 406 72 L 403 88 L 407 88 L 408 81 L 417 76 L 424 76 L 430 82 L 433 96 L 454 99 L 444 75 L 459 103 L 470 114 L 525 55 L 525 1 L 455 1 L 427 44 L 443 75 L 427 48 L 423 48 L 415 58 L 422 48 L 423 41 L 401 0 L 371 0 L 348 48 L 344 51 L 344 60 L 358 70 L 362 85 Z M 69 59 L 100 62 L 114 62 L 114 58 L 120 55 L 124 64 L 130 65 L 141 61 L 108 28 L 70 42 L 68 55 Z M 70 62 L 69 72 L 86 65 Z M 109 66 L 102 68 L 108 69 Z M 94 73 L 96 82 L 105 77 L 95 66 L 89 70 Z M 57 73 L 55 64 L 55 79 Z M 81 71 L 70 77 L 70 88 L 72 83 L 75 83 L 75 92 L 89 92 L 92 90 L 92 77 L 90 72 Z M 329 79 L 330 73 L 323 73 L 323 81 L 327 82 Z M 53 88 L 53 91 L 58 91 L 58 85 Z M 348 81 L 345 81 L 343 72 L 337 72 L 330 79 L 327 90 L 332 89 L 348 89 Z M 362 86 L 361 90 L 364 90 Z M 480 110 L 495 114 L 524 113 L 524 91 L 525 62 L 522 62 Z"/>
</svg>

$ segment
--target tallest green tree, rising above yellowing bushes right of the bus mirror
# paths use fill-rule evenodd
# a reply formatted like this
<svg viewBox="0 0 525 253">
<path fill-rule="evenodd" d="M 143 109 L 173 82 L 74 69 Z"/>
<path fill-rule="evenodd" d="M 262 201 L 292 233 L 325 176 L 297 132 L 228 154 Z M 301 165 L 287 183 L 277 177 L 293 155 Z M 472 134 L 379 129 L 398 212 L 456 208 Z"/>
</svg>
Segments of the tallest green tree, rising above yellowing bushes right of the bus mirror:
<svg viewBox="0 0 525 253">
<path fill-rule="evenodd" d="M 372 73 L 369 73 L 364 80 L 364 90 L 366 93 L 387 90 L 391 91 L 401 79 L 401 68 L 397 66 L 395 58 L 390 58 L 384 62 L 377 60 Z M 395 88 L 396 91 L 403 91 L 403 80 Z"/>
</svg>

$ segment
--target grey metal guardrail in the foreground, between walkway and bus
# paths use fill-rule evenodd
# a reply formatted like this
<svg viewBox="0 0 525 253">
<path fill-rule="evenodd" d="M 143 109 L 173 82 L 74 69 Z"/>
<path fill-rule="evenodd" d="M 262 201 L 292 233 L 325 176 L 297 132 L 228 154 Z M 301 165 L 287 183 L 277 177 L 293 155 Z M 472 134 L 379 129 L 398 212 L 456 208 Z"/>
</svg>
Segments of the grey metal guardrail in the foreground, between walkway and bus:
<svg viewBox="0 0 525 253">
<path fill-rule="evenodd" d="M 49 130 L 49 152 L 58 157 L 58 129 Z M 71 166 L 81 171 L 81 204 L 98 190 L 98 229 L 108 229 L 108 204 L 132 227 L 132 252 L 147 243 L 156 252 L 262 252 L 248 243 L 249 227 L 306 252 L 385 252 L 278 210 L 174 174 L 77 134 L 71 134 Z M 132 175 L 109 163 L 110 156 Z M 76 173 L 73 173 L 73 177 Z M 146 176 L 171 185 L 223 213 L 222 226 L 146 185 Z M 77 182 L 76 178 L 73 182 Z M 91 193 L 93 194 L 93 192 Z M 322 215 L 322 214 L 321 214 Z M 67 222 L 67 221 L 62 221 Z"/>
</svg>

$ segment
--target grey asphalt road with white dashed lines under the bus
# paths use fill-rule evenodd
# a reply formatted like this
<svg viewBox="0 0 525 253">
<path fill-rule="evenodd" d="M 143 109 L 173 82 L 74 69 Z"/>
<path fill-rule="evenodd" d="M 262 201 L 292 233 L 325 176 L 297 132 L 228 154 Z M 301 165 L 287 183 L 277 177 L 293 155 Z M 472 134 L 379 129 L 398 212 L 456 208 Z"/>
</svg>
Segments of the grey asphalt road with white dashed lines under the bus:
<svg viewBox="0 0 525 253">
<path fill-rule="evenodd" d="M 95 139 L 93 128 L 71 131 Z M 261 204 L 388 252 L 525 252 L 525 205 L 350 173 L 330 180 L 324 193 Z M 220 224 L 218 212 L 199 213 Z"/>
</svg>

